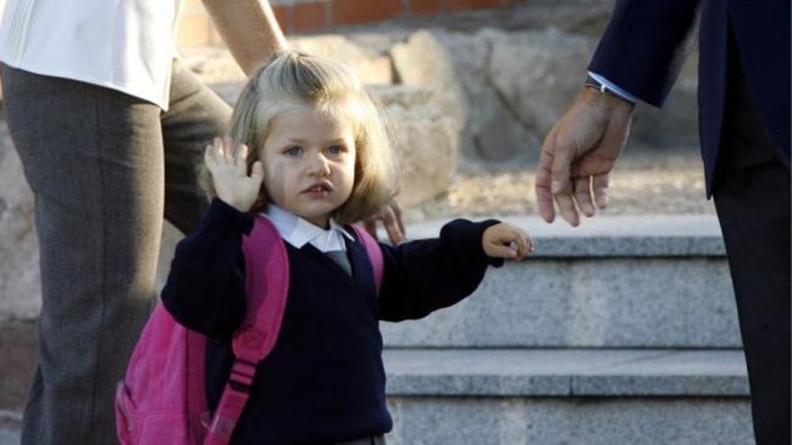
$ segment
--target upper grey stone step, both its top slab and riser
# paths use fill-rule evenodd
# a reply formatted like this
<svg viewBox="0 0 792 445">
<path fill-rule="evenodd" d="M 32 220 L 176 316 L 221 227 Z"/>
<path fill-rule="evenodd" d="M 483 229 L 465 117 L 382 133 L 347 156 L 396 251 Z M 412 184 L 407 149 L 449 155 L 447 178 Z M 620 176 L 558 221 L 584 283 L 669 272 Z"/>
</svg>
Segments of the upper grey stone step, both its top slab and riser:
<svg viewBox="0 0 792 445">
<path fill-rule="evenodd" d="M 386 345 L 742 346 L 715 217 L 599 217 L 577 228 L 504 219 L 532 233 L 535 253 L 491 269 L 454 307 L 422 320 L 383 323 Z M 408 233 L 437 236 L 441 226 L 414 224 Z"/>
</svg>

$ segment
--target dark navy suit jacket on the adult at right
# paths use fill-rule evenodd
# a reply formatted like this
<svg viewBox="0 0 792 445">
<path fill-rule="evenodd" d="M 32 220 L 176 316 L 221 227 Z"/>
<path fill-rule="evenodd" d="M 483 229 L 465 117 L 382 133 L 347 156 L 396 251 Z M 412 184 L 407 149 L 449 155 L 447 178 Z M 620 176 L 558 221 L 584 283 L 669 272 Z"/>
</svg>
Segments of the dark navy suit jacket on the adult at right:
<svg viewBox="0 0 792 445">
<path fill-rule="evenodd" d="M 789 4 L 789 0 L 618 0 L 589 69 L 644 102 L 662 106 L 679 75 L 688 53 L 688 37 L 703 8 L 698 127 L 709 192 L 728 94 L 729 26 L 761 118 L 789 159 Z"/>
</svg>

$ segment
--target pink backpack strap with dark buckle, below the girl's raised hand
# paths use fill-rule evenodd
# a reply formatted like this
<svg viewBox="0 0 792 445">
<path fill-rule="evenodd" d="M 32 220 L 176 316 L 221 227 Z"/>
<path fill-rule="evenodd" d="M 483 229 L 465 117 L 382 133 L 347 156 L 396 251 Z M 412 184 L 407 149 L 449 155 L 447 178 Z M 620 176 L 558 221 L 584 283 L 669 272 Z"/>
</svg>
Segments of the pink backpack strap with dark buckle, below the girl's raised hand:
<svg viewBox="0 0 792 445">
<path fill-rule="evenodd" d="M 283 239 L 269 219 L 257 215 L 253 230 L 242 240 L 242 250 L 247 314 L 231 342 L 236 359 L 204 445 L 230 441 L 250 396 L 257 364 L 275 347 L 289 294 L 289 257 Z"/>
</svg>

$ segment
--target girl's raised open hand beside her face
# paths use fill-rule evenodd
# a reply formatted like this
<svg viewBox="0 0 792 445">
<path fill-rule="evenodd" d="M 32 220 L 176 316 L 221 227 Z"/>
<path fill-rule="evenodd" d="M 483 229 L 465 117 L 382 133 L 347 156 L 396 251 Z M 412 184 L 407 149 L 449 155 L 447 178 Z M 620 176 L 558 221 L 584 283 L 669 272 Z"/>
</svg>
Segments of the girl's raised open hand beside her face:
<svg viewBox="0 0 792 445">
<path fill-rule="evenodd" d="M 214 138 L 206 146 L 203 161 L 209 169 L 217 197 L 239 211 L 247 211 L 256 202 L 261 182 L 264 181 L 264 166 L 256 161 L 247 175 L 247 146 L 236 150 L 229 138 Z"/>
</svg>

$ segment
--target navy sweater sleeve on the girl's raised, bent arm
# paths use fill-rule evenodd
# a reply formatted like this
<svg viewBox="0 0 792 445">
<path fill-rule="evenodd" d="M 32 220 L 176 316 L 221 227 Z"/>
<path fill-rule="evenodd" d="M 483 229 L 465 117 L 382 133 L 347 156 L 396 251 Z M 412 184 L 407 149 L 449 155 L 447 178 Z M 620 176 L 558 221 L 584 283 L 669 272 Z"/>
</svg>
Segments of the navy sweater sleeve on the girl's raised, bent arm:
<svg viewBox="0 0 792 445">
<path fill-rule="evenodd" d="M 242 324 L 242 236 L 253 222 L 251 214 L 215 199 L 195 231 L 176 246 L 162 303 L 177 322 L 216 338 L 230 338 Z"/>
</svg>

